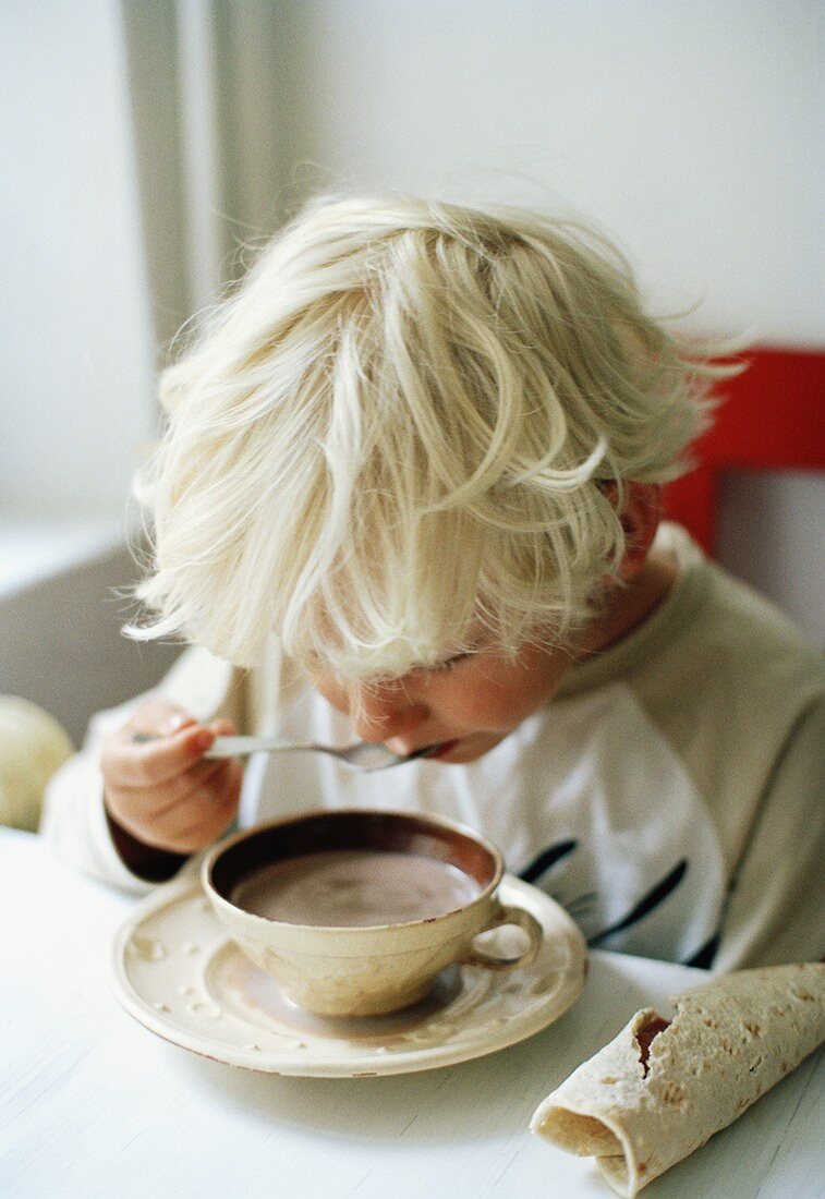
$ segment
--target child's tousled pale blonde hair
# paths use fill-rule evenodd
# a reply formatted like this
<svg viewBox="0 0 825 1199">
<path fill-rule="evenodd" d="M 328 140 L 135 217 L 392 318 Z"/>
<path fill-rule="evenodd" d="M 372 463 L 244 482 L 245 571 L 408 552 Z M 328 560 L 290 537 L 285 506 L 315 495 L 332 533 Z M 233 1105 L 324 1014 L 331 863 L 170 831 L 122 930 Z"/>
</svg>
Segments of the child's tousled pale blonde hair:
<svg viewBox="0 0 825 1199">
<path fill-rule="evenodd" d="M 162 378 L 156 616 L 239 665 L 341 676 L 562 641 L 621 561 L 626 481 L 684 469 L 730 373 L 627 264 L 520 210 L 309 205 Z M 618 484 L 618 504 L 604 481 Z"/>
</svg>

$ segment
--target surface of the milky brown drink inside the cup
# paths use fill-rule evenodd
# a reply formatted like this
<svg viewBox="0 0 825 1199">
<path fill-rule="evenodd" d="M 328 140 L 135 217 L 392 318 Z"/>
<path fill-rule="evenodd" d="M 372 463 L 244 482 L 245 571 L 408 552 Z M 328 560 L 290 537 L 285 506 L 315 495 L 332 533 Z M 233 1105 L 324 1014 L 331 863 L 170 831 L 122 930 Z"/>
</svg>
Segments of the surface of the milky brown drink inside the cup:
<svg viewBox="0 0 825 1199">
<path fill-rule="evenodd" d="M 331 850 L 265 866 L 239 882 L 230 899 L 288 924 L 363 928 L 442 916 L 480 893 L 475 879 L 432 857 Z"/>
</svg>

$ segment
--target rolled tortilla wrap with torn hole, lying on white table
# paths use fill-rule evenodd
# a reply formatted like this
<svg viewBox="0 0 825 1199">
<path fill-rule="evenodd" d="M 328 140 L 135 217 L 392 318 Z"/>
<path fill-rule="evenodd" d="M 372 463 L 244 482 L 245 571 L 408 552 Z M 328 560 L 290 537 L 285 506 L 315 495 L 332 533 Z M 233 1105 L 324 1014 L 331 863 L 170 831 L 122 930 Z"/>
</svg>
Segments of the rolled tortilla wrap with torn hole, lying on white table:
<svg viewBox="0 0 825 1199">
<path fill-rule="evenodd" d="M 825 965 L 741 970 L 645 1008 L 538 1105 L 530 1127 L 633 1195 L 725 1128 L 825 1038 Z"/>
</svg>

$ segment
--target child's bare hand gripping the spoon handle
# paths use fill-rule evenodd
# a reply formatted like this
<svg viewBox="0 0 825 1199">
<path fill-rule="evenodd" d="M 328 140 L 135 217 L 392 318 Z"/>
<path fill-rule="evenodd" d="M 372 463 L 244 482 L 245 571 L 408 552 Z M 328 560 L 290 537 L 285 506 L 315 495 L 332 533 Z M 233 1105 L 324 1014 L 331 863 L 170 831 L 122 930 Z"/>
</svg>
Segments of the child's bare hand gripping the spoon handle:
<svg viewBox="0 0 825 1199">
<path fill-rule="evenodd" d="M 141 704 L 103 745 L 106 806 L 126 832 L 157 849 L 193 854 L 213 842 L 237 812 L 243 775 L 233 758 L 203 760 L 230 721 L 198 722 L 159 700 Z M 152 740 L 136 742 L 136 734 Z"/>
</svg>

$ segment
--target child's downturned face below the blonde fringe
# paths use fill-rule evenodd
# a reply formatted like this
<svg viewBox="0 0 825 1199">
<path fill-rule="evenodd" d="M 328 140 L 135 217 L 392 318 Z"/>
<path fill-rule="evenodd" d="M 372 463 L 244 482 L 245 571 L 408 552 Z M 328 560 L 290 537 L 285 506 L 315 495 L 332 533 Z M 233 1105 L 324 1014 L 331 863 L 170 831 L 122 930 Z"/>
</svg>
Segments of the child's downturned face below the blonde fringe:
<svg viewBox="0 0 825 1199">
<path fill-rule="evenodd" d="M 342 683 L 318 671 L 311 677 L 361 740 L 383 741 L 399 754 L 440 745 L 433 757 L 469 763 L 543 707 L 571 662 L 565 650 L 528 645 L 514 658 L 482 649 L 381 683 Z"/>
</svg>

